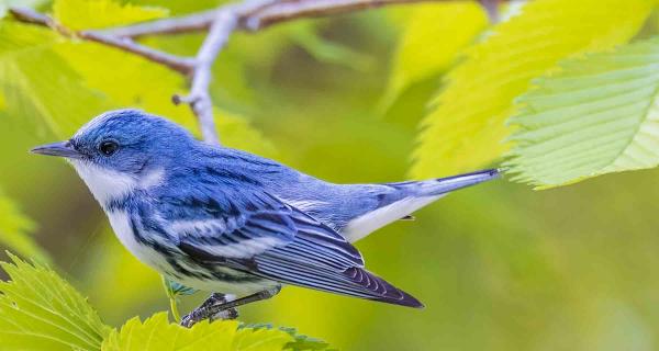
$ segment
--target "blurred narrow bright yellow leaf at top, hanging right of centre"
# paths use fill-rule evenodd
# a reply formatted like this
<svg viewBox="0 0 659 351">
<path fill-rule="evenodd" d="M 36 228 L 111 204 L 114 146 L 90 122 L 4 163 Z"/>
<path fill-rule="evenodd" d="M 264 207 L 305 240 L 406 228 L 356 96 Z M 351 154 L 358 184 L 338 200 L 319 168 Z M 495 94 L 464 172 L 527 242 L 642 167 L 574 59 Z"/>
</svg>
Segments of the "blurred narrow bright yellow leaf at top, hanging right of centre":
<svg viewBox="0 0 659 351">
<path fill-rule="evenodd" d="M 386 111 L 409 86 L 447 69 L 488 22 L 476 1 L 414 5 L 393 56 L 380 110 Z"/>
</svg>

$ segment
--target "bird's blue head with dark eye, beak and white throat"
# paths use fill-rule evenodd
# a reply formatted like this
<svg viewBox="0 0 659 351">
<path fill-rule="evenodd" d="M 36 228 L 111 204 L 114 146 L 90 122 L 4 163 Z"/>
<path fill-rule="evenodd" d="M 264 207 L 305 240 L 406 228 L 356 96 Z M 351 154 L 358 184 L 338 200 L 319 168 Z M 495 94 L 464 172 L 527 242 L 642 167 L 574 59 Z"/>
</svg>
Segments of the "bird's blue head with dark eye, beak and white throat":
<svg viewBox="0 0 659 351">
<path fill-rule="evenodd" d="M 182 127 L 138 110 L 110 111 L 69 140 L 42 145 L 33 154 L 64 157 L 101 202 L 161 182 L 164 172 L 197 140 Z"/>
</svg>

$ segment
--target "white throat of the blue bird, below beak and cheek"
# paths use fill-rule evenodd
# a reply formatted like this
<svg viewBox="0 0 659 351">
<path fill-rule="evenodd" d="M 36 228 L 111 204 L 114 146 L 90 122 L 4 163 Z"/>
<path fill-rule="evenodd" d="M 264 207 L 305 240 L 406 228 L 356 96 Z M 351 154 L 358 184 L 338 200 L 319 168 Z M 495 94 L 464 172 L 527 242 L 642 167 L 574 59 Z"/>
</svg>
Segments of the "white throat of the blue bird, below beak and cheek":
<svg viewBox="0 0 659 351">
<path fill-rule="evenodd" d="M 137 178 L 131 174 L 113 171 L 90 162 L 70 160 L 96 200 L 105 205 L 112 200 L 121 199 L 138 189 L 148 189 L 163 182 L 164 170 L 158 169 Z"/>
</svg>

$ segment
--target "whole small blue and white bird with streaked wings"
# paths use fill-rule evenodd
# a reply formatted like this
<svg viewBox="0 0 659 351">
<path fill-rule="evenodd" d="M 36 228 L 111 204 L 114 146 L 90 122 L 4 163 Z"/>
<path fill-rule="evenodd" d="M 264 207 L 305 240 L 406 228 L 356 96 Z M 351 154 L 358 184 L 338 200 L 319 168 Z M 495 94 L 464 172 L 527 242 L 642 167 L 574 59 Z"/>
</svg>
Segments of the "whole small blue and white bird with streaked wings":
<svg viewBox="0 0 659 351">
<path fill-rule="evenodd" d="M 421 308 L 368 271 L 353 242 L 496 169 L 425 181 L 336 184 L 275 160 L 197 139 L 141 110 L 105 112 L 33 154 L 65 158 L 119 240 L 167 279 L 214 294 L 181 321 L 297 285 Z M 225 296 L 241 296 L 228 301 Z"/>
</svg>

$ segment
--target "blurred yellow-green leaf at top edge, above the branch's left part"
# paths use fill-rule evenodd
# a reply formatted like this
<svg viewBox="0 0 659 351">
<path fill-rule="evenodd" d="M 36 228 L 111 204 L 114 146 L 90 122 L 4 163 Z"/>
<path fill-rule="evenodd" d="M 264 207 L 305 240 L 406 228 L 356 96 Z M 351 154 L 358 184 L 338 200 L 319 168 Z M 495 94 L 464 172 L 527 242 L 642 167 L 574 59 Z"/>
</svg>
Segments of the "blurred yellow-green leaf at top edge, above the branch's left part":
<svg viewBox="0 0 659 351">
<path fill-rule="evenodd" d="M 137 7 L 112 0 L 56 0 L 53 18 L 70 30 L 119 26 L 165 18 L 167 9 Z"/>
</svg>

